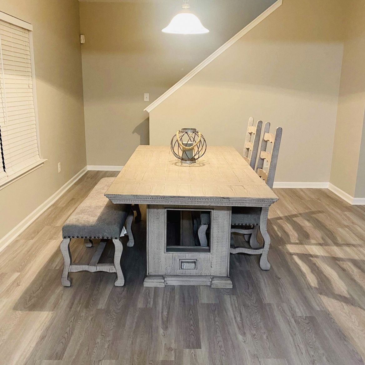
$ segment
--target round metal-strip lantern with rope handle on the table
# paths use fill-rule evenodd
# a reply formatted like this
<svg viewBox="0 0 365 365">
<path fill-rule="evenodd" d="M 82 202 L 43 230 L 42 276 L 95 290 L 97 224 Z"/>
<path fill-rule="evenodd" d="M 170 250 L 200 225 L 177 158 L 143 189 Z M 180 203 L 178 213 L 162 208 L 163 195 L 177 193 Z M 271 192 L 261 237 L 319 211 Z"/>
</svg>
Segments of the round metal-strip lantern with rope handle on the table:
<svg viewBox="0 0 365 365">
<path fill-rule="evenodd" d="M 171 151 L 184 164 L 194 164 L 204 155 L 207 143 L 195 128 L 183 128 L 171 139 Z"/>
</svg>

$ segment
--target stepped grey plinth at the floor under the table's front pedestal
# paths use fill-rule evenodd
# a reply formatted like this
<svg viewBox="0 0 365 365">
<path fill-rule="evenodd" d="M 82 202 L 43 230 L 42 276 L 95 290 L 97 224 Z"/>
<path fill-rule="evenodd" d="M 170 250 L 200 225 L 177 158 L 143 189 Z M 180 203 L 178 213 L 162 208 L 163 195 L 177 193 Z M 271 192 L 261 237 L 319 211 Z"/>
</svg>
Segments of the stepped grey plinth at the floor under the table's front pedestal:
<svg viewBox="0 0 365 365">
<path fill-rule="evenodd" d="M 232 288 L 229 276 L 180 276 L 180 275 L 147 275 L 143 281 L 144 287 L 161 287 L 166 285 L 205 285 L 211 288 Z"/>
</svg>

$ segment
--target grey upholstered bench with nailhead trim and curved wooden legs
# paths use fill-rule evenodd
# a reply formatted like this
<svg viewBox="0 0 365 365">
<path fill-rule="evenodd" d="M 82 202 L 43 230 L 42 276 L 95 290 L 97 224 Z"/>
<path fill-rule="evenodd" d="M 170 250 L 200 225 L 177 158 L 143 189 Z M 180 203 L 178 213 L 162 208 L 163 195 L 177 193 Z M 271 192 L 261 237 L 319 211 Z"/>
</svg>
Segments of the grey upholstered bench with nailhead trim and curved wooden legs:
<svg viewBox="0 0 365 365">
<path fill-rule="evenodd" d="M 105 271 L 116 273 L 117 278 L 114 283 L 117 287 L 124 285 L 124 276 L 120 267 L 120 257 L 122 256 L 123 245 L 120 236 L 123 235 L 124 224 L 128 234 L 127 246 L 134 245 L 131 224 L 133 211 L 130 204 L 113 204 L 104 193 L 108 190 L 114 177 L 102 178 L 91 193 L 70 215 L 62 227 L 61 252 L 64 257 L 64 269 L 61 275 L 61 283 L 65 287 L 71 285 L 70 272 L 78 271 Z M 92 239 L 101 239 L 89 265 L 73 264 L 70 252 L 70 240 L 72 238 L 83 238 L 85 246 L 92 245 Z M 114 243 L 114 264 L 98 264 L 106 242 L 111 239 Z"/>
</svg>

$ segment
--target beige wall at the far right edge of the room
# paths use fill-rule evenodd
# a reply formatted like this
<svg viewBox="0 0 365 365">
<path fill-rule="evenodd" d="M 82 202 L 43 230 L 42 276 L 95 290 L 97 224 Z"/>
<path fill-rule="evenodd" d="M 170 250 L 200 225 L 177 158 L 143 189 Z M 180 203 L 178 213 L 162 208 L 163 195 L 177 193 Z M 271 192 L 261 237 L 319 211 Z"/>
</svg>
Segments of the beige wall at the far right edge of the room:
<svg viewBox="0 0 365 365">
<path fill-rule="evenodd" d="M 330 182 L 351 196 L 365 197 L 364 1 L 348 1 L 344 15 L 345 41 Z"/>
</svg>

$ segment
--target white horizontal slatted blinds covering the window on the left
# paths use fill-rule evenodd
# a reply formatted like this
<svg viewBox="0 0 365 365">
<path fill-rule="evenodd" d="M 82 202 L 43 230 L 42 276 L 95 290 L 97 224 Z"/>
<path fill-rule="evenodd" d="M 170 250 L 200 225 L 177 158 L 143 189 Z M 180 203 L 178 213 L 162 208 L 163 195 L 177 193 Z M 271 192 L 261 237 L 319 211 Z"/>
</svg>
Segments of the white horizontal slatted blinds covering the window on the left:
<svg viewBox="0 0 365 365">
<path fill-rule="evenodd" d="M 32 85 L 29 31 L 0 20 L 0 178 L 40 160 Z"/>
</svg>

